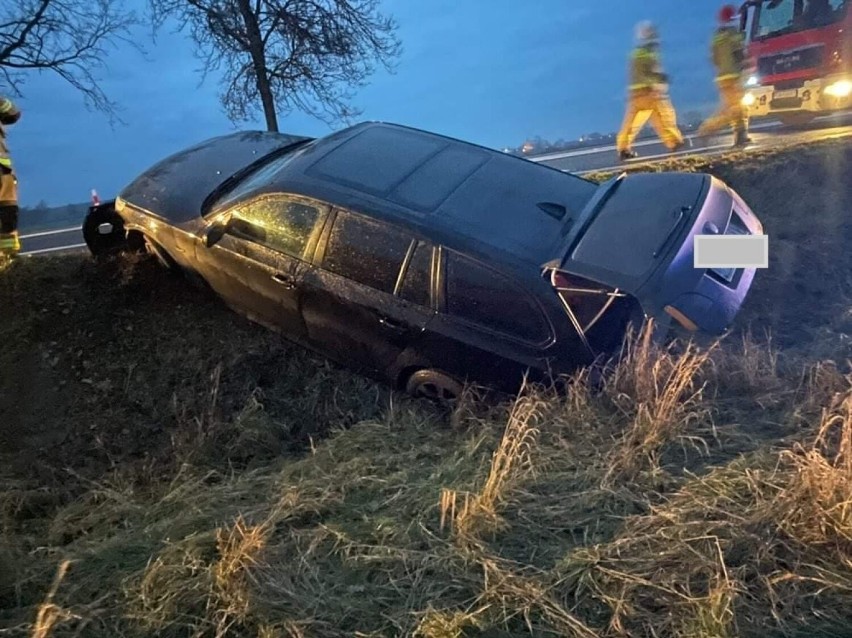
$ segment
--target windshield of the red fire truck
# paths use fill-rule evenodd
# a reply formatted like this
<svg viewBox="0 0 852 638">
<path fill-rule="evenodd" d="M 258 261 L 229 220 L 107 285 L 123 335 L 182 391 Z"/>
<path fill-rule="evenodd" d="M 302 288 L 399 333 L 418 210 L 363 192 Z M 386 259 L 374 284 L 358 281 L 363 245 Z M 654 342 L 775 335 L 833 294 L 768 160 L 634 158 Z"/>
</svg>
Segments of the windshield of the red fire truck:
<svg viewBox="0 0 852 638">
<path fill-rule="evenodd" d="M 834 24 L 843 18 L 849 0 L 767 0 L 760 6 L 752 38 L 761 40 Z"/>
</svg>

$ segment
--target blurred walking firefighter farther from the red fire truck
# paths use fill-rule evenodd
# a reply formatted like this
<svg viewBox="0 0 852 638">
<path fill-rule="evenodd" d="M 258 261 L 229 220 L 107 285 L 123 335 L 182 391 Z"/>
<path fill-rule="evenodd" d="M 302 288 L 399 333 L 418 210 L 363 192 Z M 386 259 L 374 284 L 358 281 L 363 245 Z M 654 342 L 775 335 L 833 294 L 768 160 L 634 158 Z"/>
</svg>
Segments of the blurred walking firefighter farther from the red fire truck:
<svg viewBox="0 0 852 638">
<path fill-rule="evenodd" d="M 684 145 L 677 116 L 668 96 L 668 76 L 660 65 L 657 29 L 650 22 L 636 26 L 637 46 L 630 60 L 630 89 L 624 123 L 616 139 L 622 160 L 636 157 L 633 141 L 651 120 L 651 125 L 669 151 Z"/>
</svg>

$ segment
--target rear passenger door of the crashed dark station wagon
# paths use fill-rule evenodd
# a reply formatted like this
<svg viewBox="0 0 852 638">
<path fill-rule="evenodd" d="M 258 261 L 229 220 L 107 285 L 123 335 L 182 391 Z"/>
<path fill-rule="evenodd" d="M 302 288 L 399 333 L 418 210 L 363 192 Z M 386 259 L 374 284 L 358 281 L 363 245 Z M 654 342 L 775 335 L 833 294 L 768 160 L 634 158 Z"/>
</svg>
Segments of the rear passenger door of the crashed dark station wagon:
<svg viewBox="0 0 852 638">
<path fill-rule="evenodd" d="M 319 253 L 302 282 L 308 340 L 356 370 L 393 380 L 400 355 L 434 315 L 432 245 L 337 210 Z"/>
</svg>

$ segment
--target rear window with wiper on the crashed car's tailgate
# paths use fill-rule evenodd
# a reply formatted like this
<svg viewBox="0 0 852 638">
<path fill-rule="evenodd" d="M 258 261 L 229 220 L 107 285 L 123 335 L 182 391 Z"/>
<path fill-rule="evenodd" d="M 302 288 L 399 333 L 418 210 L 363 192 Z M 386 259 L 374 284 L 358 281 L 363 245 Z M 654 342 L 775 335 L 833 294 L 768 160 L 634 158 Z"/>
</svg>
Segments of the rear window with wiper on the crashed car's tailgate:
<svg viewBox="0 0 852 638">
<path fill-rule="evenodd" d="M 710 185 L 709 175 L 691 173 L 622 174 L 604 182 L 543 268 L 598 281 L 660 308 L 667 273 L 699 216 L 721 228 L 727 224 L 730 197 L 714 201 L 712 210 L 704 206 Z M 707 215 L 713 219 L 704 220 Z M 680 269 L 680 261 L 674 267 Z M 690 277 L 700 274 L 691 263 L 684 267 Z"/>
</svg>

